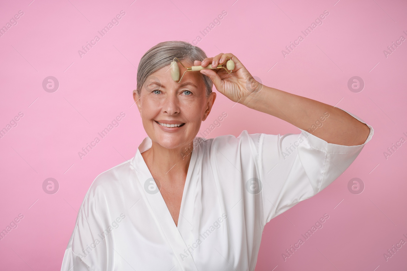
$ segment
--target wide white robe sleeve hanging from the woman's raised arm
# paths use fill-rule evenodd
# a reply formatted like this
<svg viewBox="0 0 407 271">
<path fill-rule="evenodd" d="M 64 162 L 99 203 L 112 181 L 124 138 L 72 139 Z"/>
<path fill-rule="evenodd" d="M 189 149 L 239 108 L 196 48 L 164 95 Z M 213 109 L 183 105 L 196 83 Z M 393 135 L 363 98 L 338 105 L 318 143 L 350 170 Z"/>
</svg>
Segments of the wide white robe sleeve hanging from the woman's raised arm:
<svg viewBox="0 0 407 271">
<path fill-rule="evenodd" d="M 302 129 L 300 134 L 261 134 L 257 170 L 263 185 L 263 225 L 338 178 L 372 138 L 374 130 L 368 127 L 365 143 L 355 146 L 327 143 Z"/>
</svg>

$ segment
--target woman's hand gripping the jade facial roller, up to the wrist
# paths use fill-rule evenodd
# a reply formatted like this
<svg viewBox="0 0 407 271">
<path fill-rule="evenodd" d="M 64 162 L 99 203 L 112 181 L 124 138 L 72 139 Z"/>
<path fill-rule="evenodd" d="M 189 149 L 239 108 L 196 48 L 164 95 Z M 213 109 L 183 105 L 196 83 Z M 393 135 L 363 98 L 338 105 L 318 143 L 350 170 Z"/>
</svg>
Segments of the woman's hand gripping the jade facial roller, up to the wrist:
<svg viewBox="0 0 407 271">
<path fill-rule="evenodd" d="M 202 69 L 200 72 L 212 80 L 220 93 L 234 102 L 242 103 L 251 93 L 259 92 L 263 85 L 254 80 L 253 76 L 236 56 L 231 53 L 221 53 L 215 57 L 208 57 L 202 62 L 195 60 L 194 65 L 201 65 L 202 67 L 212 65 L 212 67 L 216 67 L 218 64 L 224 64 L 228 57 L 235 65 L 232 73 L 228 74 L 225 69 Z"/>
</svg>

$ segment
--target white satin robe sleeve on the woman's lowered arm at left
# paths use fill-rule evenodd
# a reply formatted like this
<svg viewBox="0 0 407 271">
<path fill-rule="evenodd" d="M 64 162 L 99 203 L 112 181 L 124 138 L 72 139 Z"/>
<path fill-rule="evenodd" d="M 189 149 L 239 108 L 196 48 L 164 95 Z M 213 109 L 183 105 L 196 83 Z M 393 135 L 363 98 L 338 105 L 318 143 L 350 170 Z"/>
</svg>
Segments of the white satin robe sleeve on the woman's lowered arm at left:
<svg viewBox="0 0 407 271">
<path fill-rule="evenodd" d="M 63 256 L 61 271 L 106 270 L 107 246 L 97 212 L 95 182 L 79 209 L 74 231 Z"/>
</svg>

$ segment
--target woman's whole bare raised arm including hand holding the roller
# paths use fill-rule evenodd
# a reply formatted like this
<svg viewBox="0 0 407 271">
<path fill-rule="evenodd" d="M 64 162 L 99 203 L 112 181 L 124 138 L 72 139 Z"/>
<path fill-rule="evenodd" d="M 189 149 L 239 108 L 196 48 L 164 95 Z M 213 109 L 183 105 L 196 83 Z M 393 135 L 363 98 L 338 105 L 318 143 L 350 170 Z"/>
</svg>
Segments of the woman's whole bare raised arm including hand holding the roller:
<svg viewBox="0 0 407 271">
<path fill-rule="evenodd" d="M 233 54 L 218 54 L 201 63 L 195 61 L 194 65 L 206 67 L 213 61 L 212 67 L 216 67 L 227 57 L 235 63 L 231 74 L 223 69 L 203 69 L 200 72 L 230 100 L 288 121 L 328 143 L 353 146 L 365 143 L 368 138 L 369 127 L 340 108 L 261 85 Z M 322 126 L 318 127 L 320 124 Z"/>
</svg>

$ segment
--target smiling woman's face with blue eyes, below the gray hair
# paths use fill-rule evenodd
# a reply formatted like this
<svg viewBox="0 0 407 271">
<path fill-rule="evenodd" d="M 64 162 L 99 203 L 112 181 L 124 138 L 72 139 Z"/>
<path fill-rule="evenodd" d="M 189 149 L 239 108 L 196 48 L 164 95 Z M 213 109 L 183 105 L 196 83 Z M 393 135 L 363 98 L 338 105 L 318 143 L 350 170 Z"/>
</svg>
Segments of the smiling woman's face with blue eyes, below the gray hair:
<svg viewBox="0 0 407 271">
<path fill-rule="evenodd" d="M 185 66 L 190 65 L 185 62 Z M 178 62 L 177 65 L 182 76 L 185 69 Z M 170 65 L 151 74 L 143 84 L 140 97 L 135 91 L 133 98 L 151 141 L 167 149 L 181 150 L 199 132 L 201 121 L 208 117 L 216 93 L 212 92 L 206 98 L 205 83 L 199 72 L 186 72 L 178 84 L 172 80 L 169 68 Z M 171 124 L 175 127 L 166 127 Z M 177 124 L 180 126 L 177 127 Z"/>
</svg>

